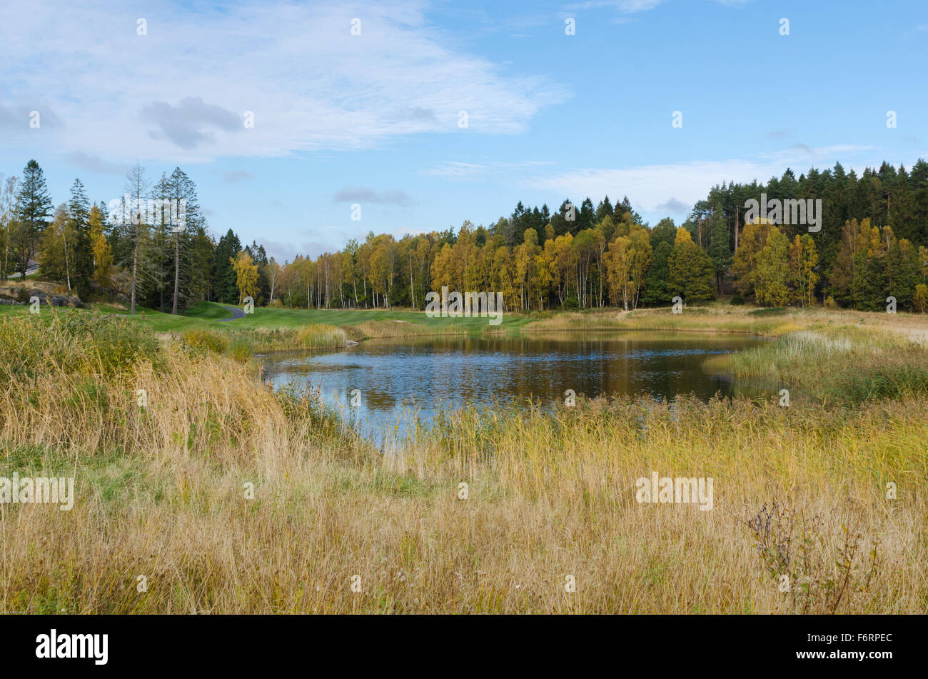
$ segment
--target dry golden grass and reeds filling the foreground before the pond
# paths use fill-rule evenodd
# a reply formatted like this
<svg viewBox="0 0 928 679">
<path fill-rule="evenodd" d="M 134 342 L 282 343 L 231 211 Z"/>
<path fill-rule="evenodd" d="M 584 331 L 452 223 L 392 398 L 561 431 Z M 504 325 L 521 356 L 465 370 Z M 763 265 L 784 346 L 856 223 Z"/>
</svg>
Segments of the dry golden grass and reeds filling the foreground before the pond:
<svg viewBox="0 0 928 679">
<path fill-rule="evenodd" d="M 0 504 L 0 610 L 928 606 L 918 393 L 465 411 L 384 455 L 229 353 L 129 321 L 0 321 L 0 476 L 72 476 L 76 494 Z M 651 471 L 712 477 L 713 510 L 638 504 Z"/>
</svg>

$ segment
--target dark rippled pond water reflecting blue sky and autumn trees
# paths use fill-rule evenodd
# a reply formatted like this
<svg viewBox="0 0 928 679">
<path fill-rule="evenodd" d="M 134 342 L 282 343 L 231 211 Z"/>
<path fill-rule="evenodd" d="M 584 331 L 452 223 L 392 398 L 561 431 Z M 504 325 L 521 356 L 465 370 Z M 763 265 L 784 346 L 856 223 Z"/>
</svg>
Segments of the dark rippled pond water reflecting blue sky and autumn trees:
<svg viewBox="0 0 928 679">
<path fill-rule="evenodd" d="M 655 333 L 378 339 L 336 351 L 270 356 L 264 359 L 264 377 L 318 388 L 326 403 L 359 418 L 361 428 L 374 433 L 393 429 L 414 404 L 420 417 L 430 419 L 440 408 L 468 404 L 527 398 L 562 403 L 569 389 L 586 396 L 667 400 L 680 393 L 703 400 L 716 392 L 755 395 L 703 372 L 702 362 L 762 341 Z M 349 405 L 354 389 L 361 391 L 359 408 Z"/>
</svg>

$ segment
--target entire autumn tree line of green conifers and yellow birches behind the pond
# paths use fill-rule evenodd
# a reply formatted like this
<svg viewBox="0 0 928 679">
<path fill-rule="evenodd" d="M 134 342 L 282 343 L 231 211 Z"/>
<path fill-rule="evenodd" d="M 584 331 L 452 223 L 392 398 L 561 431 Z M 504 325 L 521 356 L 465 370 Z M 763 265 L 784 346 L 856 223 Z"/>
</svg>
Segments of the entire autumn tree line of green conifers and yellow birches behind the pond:
<svg viewBox="0 0 928 679">
<path fill-rule="evenodd" d="M 760 199 L 821 199 L 821 229 L 746 214 Z M 183 199 L 184 218 L 143 209 Z M 0 183 L 0 275 L 38 262 L 82 300 L 122 295 L 135 306 L 178 313 L 200 300 L 302 308 L 423 309 L 443 286 L 496 291 L 507 311 L 667 305 L 733 293 L 761 305 L 841 305 L 875 310 L 928 306 L 928 163 L 907 172 L 883 163 L 859 177 L 836 164 L 767 184 L 723 183 L 683 224 L 651 226 L 627 198 L 556 211 L 519 202 L 484 226 L 395 238 L 370 232 L 342 250 L 277 263 L 229 229 L 209 233 L 193 181 L 180 168 L 154 182 L 135 165 L 123 197 L 92 204 L 75 180 L 53 209 L 38 163 Z"/>
</svg>

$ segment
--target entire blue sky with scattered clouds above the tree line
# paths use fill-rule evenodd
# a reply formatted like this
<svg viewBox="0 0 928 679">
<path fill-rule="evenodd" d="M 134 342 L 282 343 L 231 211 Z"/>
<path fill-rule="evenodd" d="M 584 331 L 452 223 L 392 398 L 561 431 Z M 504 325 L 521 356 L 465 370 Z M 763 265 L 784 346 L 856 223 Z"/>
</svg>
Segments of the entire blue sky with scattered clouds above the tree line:
<svg viewBox="0 0 928 679">
<path fill-rule="evenodd" d="M 654 224 L 725 180 L 928 158 L 915 1 L 5 0 L 0 56 L 0 173 L 108 201 L 136 160 L 180 165 L 214 234 L 281 261 L 520 199 L 627 195 Z"/>
</svg>

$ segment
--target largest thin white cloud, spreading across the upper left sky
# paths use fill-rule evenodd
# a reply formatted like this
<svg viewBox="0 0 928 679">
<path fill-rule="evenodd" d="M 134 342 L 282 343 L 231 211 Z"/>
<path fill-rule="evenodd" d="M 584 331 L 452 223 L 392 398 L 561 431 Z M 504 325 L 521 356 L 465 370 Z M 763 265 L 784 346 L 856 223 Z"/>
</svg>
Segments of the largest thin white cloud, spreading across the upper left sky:
<svg viewBox="0 0 928 679">
<path fill-rule="evenodd" d="M 137 15 L 147 35 L 136 34 Z M 361 35 L 351 34 L 355 17 Z M 276 0 L 234 12 L 167 0 L 131 12 L 97 0 L 6 0 L 0 119 L 47 100 L 64 129 L 43 124 L 28 135 L 31 149 L 177 163 L 378 147 L 419 133 L 519 133 L 539 109 L 570 96 L 451 42 L 415 0 Z"/>
</svg>

